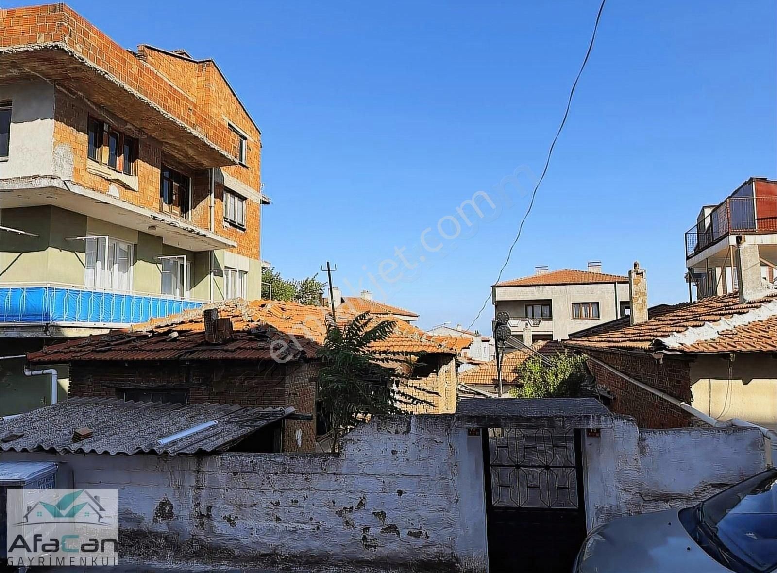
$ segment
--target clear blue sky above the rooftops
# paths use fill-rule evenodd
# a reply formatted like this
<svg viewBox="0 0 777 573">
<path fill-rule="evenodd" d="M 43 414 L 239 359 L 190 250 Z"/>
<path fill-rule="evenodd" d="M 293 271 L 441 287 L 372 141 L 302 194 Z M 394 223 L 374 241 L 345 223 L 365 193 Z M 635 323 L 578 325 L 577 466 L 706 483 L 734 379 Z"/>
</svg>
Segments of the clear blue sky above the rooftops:
<svg viewBox="0 0 777 573">
<path fill-rule="evenodd" d="M 497 200 L 495 187 L 519 169 L 528 189 L 541 172 L 598 9 L 591 0 L 71 5 L 125 47 L 183 47 L 218 62 L 263 131 L 274 200 L 263 258 L 292 277 L 336 262 L 344 291 L 361 284 L 425 327 L 469 325 L 488 295 L 528 205 L 512 188 Z M 687 300 L 683 233 L 699 207 L 752 175 L 777 175 L 775 19 L 772 0 L 609 0 L 503 279 L 591 259 L 625 273 L 639 260 L 650 304 Z M 470 227 L 456 207 L 479 190 L 497 210 L 481 203 L 480 219 L 465 207 Z M 455 238 L 441 240 L 438 222 Z M 427 228 L 439 251 L 420 246 Z M 488 330 L 492 314 L 489 304 L 476 326 Z"/>
</svg>

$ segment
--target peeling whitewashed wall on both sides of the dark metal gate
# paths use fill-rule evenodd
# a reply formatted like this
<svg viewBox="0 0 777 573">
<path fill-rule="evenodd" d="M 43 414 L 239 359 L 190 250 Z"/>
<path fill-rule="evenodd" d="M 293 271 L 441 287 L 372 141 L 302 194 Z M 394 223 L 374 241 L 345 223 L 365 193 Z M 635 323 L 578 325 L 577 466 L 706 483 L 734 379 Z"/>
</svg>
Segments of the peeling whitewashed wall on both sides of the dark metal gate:
<svg viewBox="0 0 777 573">
<path fill-rule="evenodd" d="M 693 505 L 765 467 L 756 429 L 604 422 L 583 445 L 589 529 Z M 339 455 L 5 452 L 0 461 L 56 460 L 61 487 L 119 488 L 120 543 L 138 561 L 486 571 L 483 443 L 470 433 L 451 415 L 396 416 L 350 432 Z"/>
</svg>

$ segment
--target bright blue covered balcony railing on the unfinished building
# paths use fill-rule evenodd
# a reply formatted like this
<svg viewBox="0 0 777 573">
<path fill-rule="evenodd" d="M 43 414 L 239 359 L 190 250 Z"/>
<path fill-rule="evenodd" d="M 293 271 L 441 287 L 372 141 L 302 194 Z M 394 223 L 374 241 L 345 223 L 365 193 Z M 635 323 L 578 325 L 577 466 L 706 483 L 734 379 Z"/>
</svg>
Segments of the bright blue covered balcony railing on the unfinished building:
<svg viewBox="0 0 777 573">
<path fill-rule="evenodd" d="M 0 323 L 130 325 L 205 304 L 162 295 L 51 284 L 0 285 Z"/>
</svg>

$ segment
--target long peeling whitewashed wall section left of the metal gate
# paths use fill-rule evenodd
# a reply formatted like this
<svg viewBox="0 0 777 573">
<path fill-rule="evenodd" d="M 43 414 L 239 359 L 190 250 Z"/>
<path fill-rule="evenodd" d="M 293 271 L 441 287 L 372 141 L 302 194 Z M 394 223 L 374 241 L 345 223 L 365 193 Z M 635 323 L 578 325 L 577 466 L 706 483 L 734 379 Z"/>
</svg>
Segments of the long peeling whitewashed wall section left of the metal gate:
<svg viewBox="0 0 777 573">
<path fill-rule="evenodd" d="M 64 461 L 78 487 L 120 488 L 134 557 L 486 570 L 482 450 L 453 416 L 378 420 L 339 457 L 4 453 Z"/>
</svg>

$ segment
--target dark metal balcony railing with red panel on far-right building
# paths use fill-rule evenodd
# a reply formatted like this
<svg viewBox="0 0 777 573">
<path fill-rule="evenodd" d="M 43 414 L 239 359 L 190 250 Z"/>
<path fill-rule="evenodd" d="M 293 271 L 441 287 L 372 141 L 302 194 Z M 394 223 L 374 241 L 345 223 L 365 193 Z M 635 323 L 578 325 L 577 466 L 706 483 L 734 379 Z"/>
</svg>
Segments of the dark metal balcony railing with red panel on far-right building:
<svg viewBox="0 0 777 573">
<path fill-rule="evenodd" d="M 685 233 L 690 258 L 731 233 L 777 232 L 777 197 L 731 197 Z"/>
</svg>

